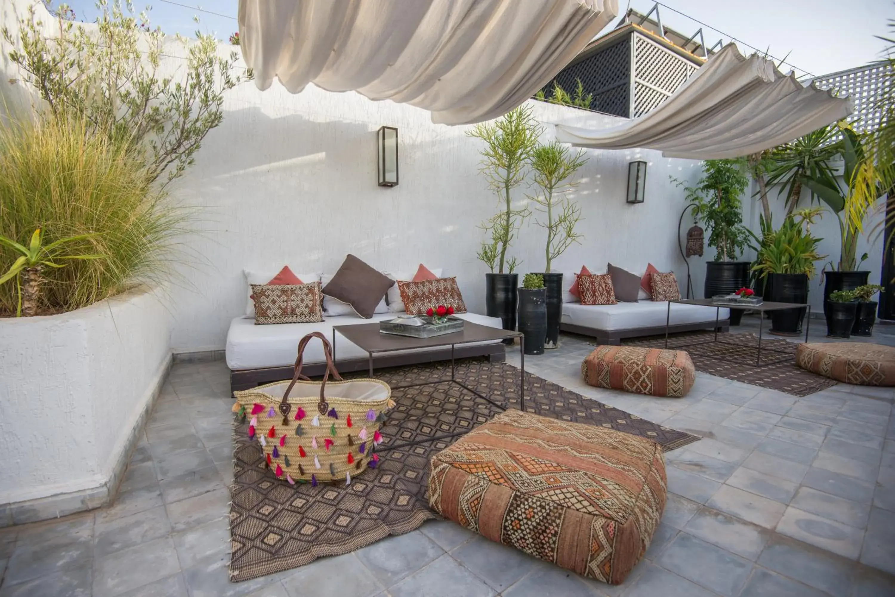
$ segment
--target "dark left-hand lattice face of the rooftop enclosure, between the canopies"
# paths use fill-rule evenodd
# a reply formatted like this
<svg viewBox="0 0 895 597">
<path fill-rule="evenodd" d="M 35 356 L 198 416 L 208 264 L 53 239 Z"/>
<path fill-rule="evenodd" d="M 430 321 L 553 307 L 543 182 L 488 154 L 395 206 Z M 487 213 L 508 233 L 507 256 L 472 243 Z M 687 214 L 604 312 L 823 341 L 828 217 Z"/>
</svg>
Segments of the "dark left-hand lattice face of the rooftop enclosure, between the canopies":
<svg viewBox="0 0 895 597">
<path fill-rule="evenodd" d="M 556 76 L 559 85 L 569 93 L 575 92 L 577 81 L 584 85 L 584 93 L 592 93 L 591 109 L 606 114 L 628 117 L 628 97 L 631 50 L 629 38 L 601 49 L 584 60 L 564 68 Z M 550 97 L 548 85 L 544 92 Z"/>
</svg>

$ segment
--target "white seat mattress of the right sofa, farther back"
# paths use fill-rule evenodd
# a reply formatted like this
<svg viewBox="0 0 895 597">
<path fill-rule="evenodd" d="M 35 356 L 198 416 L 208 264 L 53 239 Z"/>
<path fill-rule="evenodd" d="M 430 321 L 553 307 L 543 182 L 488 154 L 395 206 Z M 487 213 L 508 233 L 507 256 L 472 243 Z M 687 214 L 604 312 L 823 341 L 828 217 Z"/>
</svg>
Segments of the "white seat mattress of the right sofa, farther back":
<svg viewBox="0 0 895 597">
<path fill-rule="evenodd" d="M 562 306 L 562 322 L 584 328 L 614 331 L 617 329 L 655 328 L 665 325 L 668 316 L 668 302 L 584 305 L 581 303 L 564 303 Z M 730 310 L 720 308 L 719 319 L 730 317 Z M 695 304 L 673 303 L 669 323 L 708 323 L 715 320 L 715 308 Z"/>
</svg>

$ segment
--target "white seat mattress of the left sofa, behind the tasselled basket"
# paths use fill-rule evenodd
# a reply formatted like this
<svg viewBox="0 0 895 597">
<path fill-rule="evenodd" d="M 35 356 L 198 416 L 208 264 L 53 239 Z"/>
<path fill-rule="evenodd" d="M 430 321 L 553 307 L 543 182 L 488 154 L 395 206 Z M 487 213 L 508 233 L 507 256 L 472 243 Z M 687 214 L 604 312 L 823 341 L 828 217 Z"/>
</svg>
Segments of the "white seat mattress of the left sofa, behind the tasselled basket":
<svg viewBox="0 0 895 597">
<path fill-rule="evenodd" d="M 457 313 L 457 317 L 490 328 L 501 328 L 498 317 L 487 317 L 475 313 Z M 374 321 L 390 320 L 392 313 L 379 313 L 369 320 L 356 314 L 327 317 L 319 323 L 280 323 L 273 326 L 256 326 L 254 321 L 237 317 L 230 322 L 226 335 L 226 364 L 234 371 L 243 369 L 263 369 L 284 367 L 295 362 L 298 342 L 306 334 L 320 332 L 331 342 L 334 326 L 356 325 Z M 497 344 L 499 340 L 479 342 L 475 345 Z M 401 354 L 399 351 L 390 354 Z M 336 337 L 336 360 L 366 358 L 367 354 L 345 337 Z M 304 351 L 304 362 L 325 362 L 323 344 L 312 341 Z"/>
</svg>

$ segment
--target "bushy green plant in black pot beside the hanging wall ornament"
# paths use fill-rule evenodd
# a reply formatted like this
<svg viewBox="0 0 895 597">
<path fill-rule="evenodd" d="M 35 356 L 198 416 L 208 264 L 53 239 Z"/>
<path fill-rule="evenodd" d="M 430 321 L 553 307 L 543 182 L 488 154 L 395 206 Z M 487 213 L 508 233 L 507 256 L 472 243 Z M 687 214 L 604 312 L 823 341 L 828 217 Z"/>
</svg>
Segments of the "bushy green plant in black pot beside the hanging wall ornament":
<svg viewBox="0 0 895 597">
<path fill-rule="evenodd" d="M 708 244 L 716 251 L 715 259 L 705 263 L 704 298 L 732 294 L 749 283 L 750 262 L 737 260 L 748 238 L 739 199 L 749 186 L 746 172 L 745 158 L 707 159 L 696 186 L 684 186 L 686 200 L 695 203 L 691 213 L 707 228 Z M 739 325 L 742 316 L 742 309 L 731 309 L 730 324 Z"/>
</svg>

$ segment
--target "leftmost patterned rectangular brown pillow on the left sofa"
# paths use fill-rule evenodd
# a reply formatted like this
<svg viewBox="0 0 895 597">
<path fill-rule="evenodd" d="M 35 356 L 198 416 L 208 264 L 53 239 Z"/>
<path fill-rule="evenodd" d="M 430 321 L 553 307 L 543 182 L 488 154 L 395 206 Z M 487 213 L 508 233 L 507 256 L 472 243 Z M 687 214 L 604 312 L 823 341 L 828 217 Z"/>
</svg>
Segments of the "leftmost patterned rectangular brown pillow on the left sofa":
<svg viewBox="0 0 895 597">
<path fill-rule="evenodd" d="M 255 325 L 314 323 L 323 320 L 320 282 L 310 284 L 252 284 Z"/>
</svg>

